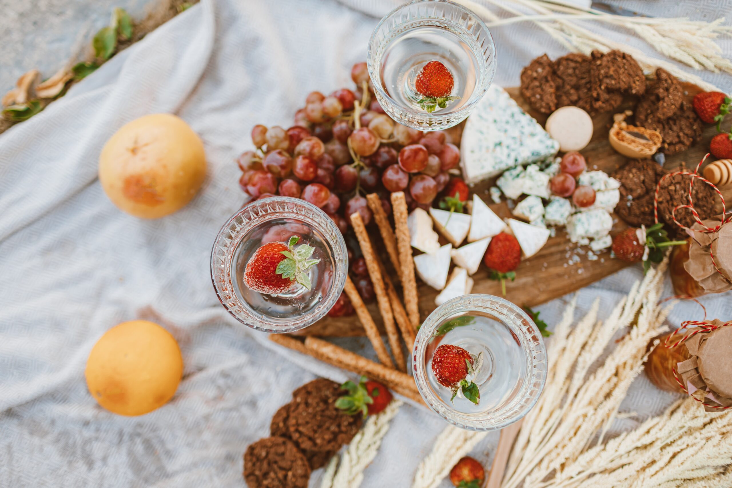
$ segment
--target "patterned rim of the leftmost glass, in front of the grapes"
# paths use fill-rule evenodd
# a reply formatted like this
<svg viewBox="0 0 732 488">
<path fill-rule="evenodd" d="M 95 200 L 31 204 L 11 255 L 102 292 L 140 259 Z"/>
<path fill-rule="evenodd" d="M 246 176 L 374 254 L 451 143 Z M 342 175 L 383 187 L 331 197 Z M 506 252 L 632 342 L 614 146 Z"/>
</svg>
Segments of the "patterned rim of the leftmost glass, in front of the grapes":
<svg viewBox="0 0 732 488">
<path fill-rule="evenodd" d="M 272 208 L 272 205 L 275 208 Z M 284 208 L 280 208 L 280 205 Z M 248 220 L 245 215 L 247 213 L 250 217 Z M 317 228 L 324 235 L 327 241 L 326 244 L 332 247 L 334 258 L 333 285 L 323 303 L 313 309 L 313 312 L 299 318 L 292 318 L 286 324 L 275 320 L 267 320 L 261 315 L 255 315 L 249 307 L 244 306 L 234 290 L 231 273 L 234 250 L 244 239 L 244 235 L 248 230 L 277 218 L 299 219 L 307 225 Z M 334 236 L 335 240 L 333 239 Z M 324 318 L 335 305 L 344 285 L 346 285 L 348 250 L 346 249 L 346 241 L 343 239 L 337 225 L 322 209 L 300 198 L 273 196 L 246 203 L 234 215 L 229 217 L 217 233 L 216 239 L 214 239 L 211 249 L 210 269 L 211 281 L 216 296 L 232 317 L 245 326 L 258 331 L 269 333 L 294 332 L 305 329 L 305 327 Z"/>
</svg>

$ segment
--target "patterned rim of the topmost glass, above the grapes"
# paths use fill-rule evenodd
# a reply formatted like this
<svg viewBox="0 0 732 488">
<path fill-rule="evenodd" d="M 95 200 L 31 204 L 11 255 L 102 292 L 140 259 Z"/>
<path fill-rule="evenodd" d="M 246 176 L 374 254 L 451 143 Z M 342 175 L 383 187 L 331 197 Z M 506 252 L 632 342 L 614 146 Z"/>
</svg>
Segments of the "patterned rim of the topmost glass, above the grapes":
<svg viewBox="0 0 732 488">
<path fill-rule="evenodd" d="M 486 62 L 487 66 L 490 66 L 490 63 L 492 62 L 494 65 L 497 63 L 496 60 L 496 44 L 493 42 L 493 34 L 490 33 L 490 29 L 488 29 L 488 26 L 485 25 L 485 22 L 483 22 L 482 18 L 479 17 L 475 12 L 472 10 L 469 10 L 468 8 L 464 7 L 461 4 L 456 3 L 452 0 L 411 0 L 404 4 L 401 4 L 400 6 L 396 7 L 391 12 L 384 15 L 383 18 L 379 21 L 379 23 L 376 25 L 376 28 L 373 29 L 373 32 L 371 33 L 371 37 L 369 39 L 369 46 L 367 50 L 367 56 L 366 56 L 366 65 L 368 68 L 369 78 L 371 80 L 371 86 L 374 90 L 374 92 L 377 95 L 377 98 L 383 97 L 384 100 L 388 101 L 389 103 L 398 105 L 397 101 L 394 100 L 392 97 L 389 96 L 389 94 L 386 93 L 384 90 L 384 87 L 381 86 L 381 83 L 376 83 L 377 80 L 380 80 L 379 77 L 379 69 L 377 63 L 376 63 L 376 56 L 374 54 L 374 45 L 376 44 L 376 35 L 378 34 L 378 31 L 381 29 L 382 26 L 384 26 L 384 23 L 386 23 L 387 20 L 391 19 L 395 15 L 397 15 L 399 12 L 411 7 L 414 4 L 427 4 L 427 3 L 434 3 L 434 4 L 447 4 L 450 7 L 453 7 L 457 10 L 460 10 L 464 14 L 468 15 L 471 19 L 473 19 L 477 25 L 481 28 L 481 30 L 485 31 L 485 34 L 487 34 L 488 39 L 490 40 L 490 55 L 489 56 L 482 56 L 484 61 Z M 440 17 L 430 17 L 425 16 L 425 19 L 442 19 Z M 471 36 L 472 37 L 472 36 Z M 473 37 L 473 40 L 477 42 L 477 39 Z M 490 58 L 493 58 L 493 61 L 490 61 Z M 463 106 L 463 108 L 460 108 L 460 110 L 457 110 L 452 113 L 445 113 L 445 114 L 432 114 L 432 113 L 422 113 L 414 108 L 403 108 L 400 106 L 401 110 L 405 110 L 407 112 L 413 113 L 415 116 L 419 116 L 424 119 L 429 120 L 435 120 L 439 121 L 441 119 L 460 119 L 460 115 L 463 113 L 466 113 L 466 116 L 468 116 L 471 111 L 475 108 L 475 105 L 482 99 L 483 95 L 485 95 L 485 92 L 488 91 L 488 88 L 490 87 L 490 84 L 493 82 L 493 78 L 495 76 L 495 70 L 488 70 L 488 75 L 485 77 L 484 80 L 482 80 L 482 83 L 480 83 L 480 86 L 477 87 L 471 94 L 471 97 L 468 99 L 466 104 Z M 386 109 L 384 109 L 386 110 Z M 463 117 L 464 119 L 464 117 Z M 462 119 L 460 119 L 462 120 Z M 398 121 L 398 123 L 403 124 L 403 122 Z M 409 124 L 408 127 L 415 127 Z M 430 130 L 429 127 L 422 127 L 419 126 L 420 130 Z"/>
</svg>

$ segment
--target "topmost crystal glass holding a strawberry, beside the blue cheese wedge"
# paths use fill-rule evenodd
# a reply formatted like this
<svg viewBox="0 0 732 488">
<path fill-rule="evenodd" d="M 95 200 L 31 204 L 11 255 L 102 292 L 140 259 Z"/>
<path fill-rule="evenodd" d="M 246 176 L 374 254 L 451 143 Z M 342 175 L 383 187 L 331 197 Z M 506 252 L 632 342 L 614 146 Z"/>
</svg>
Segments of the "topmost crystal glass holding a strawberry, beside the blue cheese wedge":
<svg viewBox="0 0 732 488">
<path fill-rule="evenodd" d="M 371 86 L 381 108 L 420 130 L 466 119 L 496 73 L 496 46 L 480 18 L 449 0 L 412 0 L 371 35 Z"/>
</svg>

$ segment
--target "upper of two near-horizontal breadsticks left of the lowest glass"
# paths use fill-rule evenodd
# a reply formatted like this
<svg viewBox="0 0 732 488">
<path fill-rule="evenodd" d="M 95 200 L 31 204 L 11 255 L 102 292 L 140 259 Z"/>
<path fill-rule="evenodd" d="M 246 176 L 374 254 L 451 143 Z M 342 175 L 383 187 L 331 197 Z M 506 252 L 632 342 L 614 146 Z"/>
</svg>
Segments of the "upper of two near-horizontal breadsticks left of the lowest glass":
<svg viewBox="0 0 732 488">
<path fill-rule="evenodd" d="M 373 380 L 381 381 L 384 384 L 392 384 L 406 389 L 406 391 L 417 391 L 417 384 L 414 383 L 414 378 L 406 373 L 397 371 L 396 369 L 389 369 L 384 367 L 383 364 L 375 363 L 370 361 L 363 356 L 359 356 L 356 353 L 352 353 L 350 350 L 346 350 L 338 347 L 335 344 L 318 339 L 317 337 L 305 337 L 305 348 L 313 351 L 315 355 L 322 356 L 328 361 L 335 361 L 336 363 L 343 364 L 343 369 L 353 371 L 359 375 L 365 375 Z M 388 385 L 387 385 L 388 386 Z"/>
</svg>

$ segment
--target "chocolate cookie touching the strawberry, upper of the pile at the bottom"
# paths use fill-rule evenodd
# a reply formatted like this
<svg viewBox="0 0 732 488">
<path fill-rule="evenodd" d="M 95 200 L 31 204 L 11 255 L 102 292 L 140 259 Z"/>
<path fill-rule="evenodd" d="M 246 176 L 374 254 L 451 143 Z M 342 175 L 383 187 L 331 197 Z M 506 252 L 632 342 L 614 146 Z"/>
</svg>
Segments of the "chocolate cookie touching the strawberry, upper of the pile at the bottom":
<svg viewBox="0 0 732 488">
<path fill-rule="evenodd" d="M 362 416 L 348 415 L 335 407 L 345 392 L 338 383 L 324 378 L 305 383 L 292 392 L 285 424 L 290 437 L 302 449 L 337 451 L 351 442 L 361 428 Z"/>
</svg>

